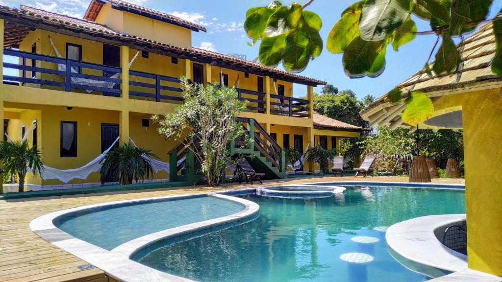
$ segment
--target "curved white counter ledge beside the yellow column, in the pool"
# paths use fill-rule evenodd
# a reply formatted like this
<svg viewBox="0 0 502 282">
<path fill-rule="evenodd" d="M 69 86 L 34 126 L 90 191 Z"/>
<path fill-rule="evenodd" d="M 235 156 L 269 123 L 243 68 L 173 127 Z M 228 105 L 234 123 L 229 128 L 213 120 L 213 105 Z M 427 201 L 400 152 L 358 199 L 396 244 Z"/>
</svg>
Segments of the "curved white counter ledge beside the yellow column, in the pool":
<svg viewBox="0 0 502 282">
<path fill-rule="evenodd" d="M 428 215 L 398 222 L 387 229 L 387 245 L 419 265 L 449 272 L 465 270 L 467 256 L 443 245 L 434 234 L 437 228 L 460 220 L 465 220 L 465 214 Z"/>
</svg>

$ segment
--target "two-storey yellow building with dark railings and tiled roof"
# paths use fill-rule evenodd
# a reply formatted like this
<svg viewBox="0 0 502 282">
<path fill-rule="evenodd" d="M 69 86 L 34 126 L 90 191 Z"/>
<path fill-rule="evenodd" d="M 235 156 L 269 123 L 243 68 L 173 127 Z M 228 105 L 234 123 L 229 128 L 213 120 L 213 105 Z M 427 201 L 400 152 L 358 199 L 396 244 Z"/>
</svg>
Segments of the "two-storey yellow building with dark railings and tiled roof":
<svg viewBox="0 0 502 282">
<path fill-rule="evenodd" d="M 169 14 L 118 0 L 92 0 L 84 20 L 27 6 L 0 7 L 0 18 L 0 58 L 5 58 L 1 135 L 26 136 L 54 169 L 42 178 L 29 174 L 28 189 L 100 185 L 96 172 L 79 171 L 72 179 L 54 175 L 68 176 L 71 171 L 58 170 L 88 164 L 118 136 L 119 142 L 131 138 L 152 150 L 161 162 L 181 159 L 182 152 L 174 150 L 178 144 L 165 140 L 149 121 L 152 114 L 171 112 L 183 102 L 181 76 L 234 86 L 238 97 L 249 101 L 241 117 L 259 132 L 255 143 L 270 151 L 263 162 L 272 177 L 286 174 L 283 148 L 303 152 L 314 143 L 332 148 L 339 138 L 366 130 L 316 121 L 313 87 L 325 82 L 194 48 L 192 32 L 206 30 Z M 308 86 L 307 100 L 292 96 L 294 83 Z M 315 171 L 313 164 L 304 169 Z M 180 174 L 177 166 L 159 170 L 154 179 L 174 179 L 173 173 Z"/>
</svg>

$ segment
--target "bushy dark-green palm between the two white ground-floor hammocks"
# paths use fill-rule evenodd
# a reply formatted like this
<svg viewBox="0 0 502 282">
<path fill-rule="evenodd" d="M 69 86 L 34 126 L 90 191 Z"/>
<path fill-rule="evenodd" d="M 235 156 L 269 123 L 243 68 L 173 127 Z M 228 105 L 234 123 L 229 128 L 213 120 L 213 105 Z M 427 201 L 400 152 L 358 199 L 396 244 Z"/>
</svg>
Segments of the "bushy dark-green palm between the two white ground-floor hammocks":
<svg viewBox="0 0 502 282">
<path fill-rule="evenodd" d="M 101 181 L 113 174 L 120 184 L 133 184 L 133 180 L 153 178 L 154 170 L 149 158 L 159 158 L 152 151 L 131 144 L 122 144 L 106 154 L 99 173 Z"/>
</svg>

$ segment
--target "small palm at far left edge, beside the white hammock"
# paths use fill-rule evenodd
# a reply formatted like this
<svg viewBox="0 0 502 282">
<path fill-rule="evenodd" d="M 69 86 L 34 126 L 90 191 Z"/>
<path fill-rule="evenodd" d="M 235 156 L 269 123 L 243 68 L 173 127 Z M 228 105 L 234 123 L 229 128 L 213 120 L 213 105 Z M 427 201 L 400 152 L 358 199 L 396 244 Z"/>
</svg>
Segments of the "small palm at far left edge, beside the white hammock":
<svg viewBox="0 0 502 282">
<path fill-rule="evenodd" d="M 3 181 L 12 175 L 19 177 L 19 192 L 25 188 L 25 177 L 28 169 L 34 174 L 42 175 L 43 161 L 40 151 L 36 147 L 30 148 L 28 140 L 11 141 L 0 143 L 0 163 L 3 166 L 0 177 Z"/>
</svg>

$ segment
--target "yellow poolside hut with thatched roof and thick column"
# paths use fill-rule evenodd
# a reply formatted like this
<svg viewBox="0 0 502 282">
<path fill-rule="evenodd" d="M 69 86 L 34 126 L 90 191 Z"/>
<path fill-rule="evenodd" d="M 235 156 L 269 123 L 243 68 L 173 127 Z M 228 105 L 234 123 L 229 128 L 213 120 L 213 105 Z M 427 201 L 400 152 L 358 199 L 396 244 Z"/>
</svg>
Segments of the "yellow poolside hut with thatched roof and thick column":
<svg viewBox="0 0 502 282">
<path fill-rule="evenodd" d="M 434 114 L 420 128 L 463 129 L 468 267 L 502 276 L 502 78 L 490 69 L 497 51 L 491 24 L 466 38 L 459 50 L 458 73 L 429 78 L 421 70 L 397 87 L 424 92 L 434 103 Z M 360 114 L 373 125 L 415 130 L 401 118 L 405 98 L 390 103 L 380 97 Z"/>
</svg>

